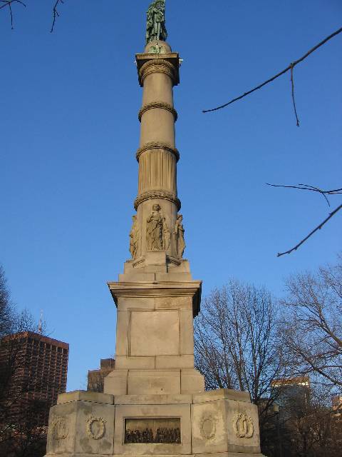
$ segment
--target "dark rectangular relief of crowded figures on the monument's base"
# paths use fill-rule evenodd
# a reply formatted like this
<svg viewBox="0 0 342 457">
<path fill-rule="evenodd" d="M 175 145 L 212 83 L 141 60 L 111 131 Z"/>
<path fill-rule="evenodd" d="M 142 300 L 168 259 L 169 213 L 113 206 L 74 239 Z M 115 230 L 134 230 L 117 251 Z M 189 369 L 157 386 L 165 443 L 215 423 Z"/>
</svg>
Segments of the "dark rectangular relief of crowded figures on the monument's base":
<svg viewBox="0 0 342 457">
<path fill-rule="evenodd" d="M 181 443 L 180 418 L 126 418 L 125 444 Z"/>
</svg>

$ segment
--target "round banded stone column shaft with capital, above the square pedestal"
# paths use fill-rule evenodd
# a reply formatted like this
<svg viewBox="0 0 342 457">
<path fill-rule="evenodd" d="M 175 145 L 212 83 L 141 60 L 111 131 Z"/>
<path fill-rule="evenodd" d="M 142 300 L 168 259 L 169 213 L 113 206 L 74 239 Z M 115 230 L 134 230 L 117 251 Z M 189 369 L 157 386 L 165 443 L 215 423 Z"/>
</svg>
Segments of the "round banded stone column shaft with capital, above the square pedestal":
<svg viewBox="0 0 342 457">
<path fill-rule="evenodd" d="M 154 52 L 151 53 L 151 49 Z M 160 51 L 159 54 L 155 50 Z M 173 86 L 179 82 L 180 59 L 163 42 L 150 43 L 144 54 L 136 56 L 138 78 L 143 88 L 139 163 L 138 197 L 135 199 L 139 227 L 137 266 L 148 264 L 147 251 L 164 251 L 165 261 L 177 258 L 173 231 L 180 210 L 177 198 L 177 161 L 180 158 L 175 147 L 175 121 L 177 111 L 173 104 Z M 166 241 L 161 248 L 151 248 L 147 243 L 147 219 L 153 206 L 160 206 L 165 218 Z M 146 259 L 147 257 L 147 259 Z M 154 256 L 155 257 L 155 256 Z"/>
</svg>

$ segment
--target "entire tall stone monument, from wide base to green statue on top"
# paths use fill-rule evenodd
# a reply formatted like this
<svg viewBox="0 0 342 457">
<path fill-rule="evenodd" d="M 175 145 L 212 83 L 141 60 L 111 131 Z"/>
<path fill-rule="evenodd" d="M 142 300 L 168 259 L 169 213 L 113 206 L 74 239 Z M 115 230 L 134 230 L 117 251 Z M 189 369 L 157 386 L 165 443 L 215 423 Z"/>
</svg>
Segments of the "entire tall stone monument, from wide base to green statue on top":
<svg viewBox="0 0 342 457">
<path fill-rule="evenodd" d="M 204 391 L 194 366 L 193 318 L 202 283 L 192 279 L 183 257 L 173 104 L 180 56 L 166 39 L 165 1 L 153 1 L 145 51 L 136 55 L 142 108 L 131 258 L 118 281 L 108 283 L 118 311 L 115 369 L 104 393 L 58 396 L 48 457 L 261 457 L 257 406 L 249 394 Z"/>
</svg>

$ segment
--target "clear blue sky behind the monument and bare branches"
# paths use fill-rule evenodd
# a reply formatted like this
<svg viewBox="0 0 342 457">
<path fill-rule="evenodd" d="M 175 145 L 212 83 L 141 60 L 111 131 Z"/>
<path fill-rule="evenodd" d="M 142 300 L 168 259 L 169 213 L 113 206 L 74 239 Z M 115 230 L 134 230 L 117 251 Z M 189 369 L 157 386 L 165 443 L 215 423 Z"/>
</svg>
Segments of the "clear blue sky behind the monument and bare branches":
<svg viewBox="0 0 342 457">
<path fill-rule="evenodd" d="M 13 300 L 70 343 L 68 389 L 115 353 L 106 281 L 128 258 L 137 192 L 134 65 L 149 0 L 51 0 L 0 11 L 0 263 Z M 289 74 L 214 114 L 341 26 L 340 0 L 167 0 L 178 189 L 194 278 L 204 295 L 234 276 L 284 293 L 289 273 L 334 261 L 342 214 L 299 251 L 276 258 L 328 214 L 317 194 L 265 182 L 341 187 L 342 34 Z M 341 199 L 331 198 L 332 207 Z"/>
</svg>

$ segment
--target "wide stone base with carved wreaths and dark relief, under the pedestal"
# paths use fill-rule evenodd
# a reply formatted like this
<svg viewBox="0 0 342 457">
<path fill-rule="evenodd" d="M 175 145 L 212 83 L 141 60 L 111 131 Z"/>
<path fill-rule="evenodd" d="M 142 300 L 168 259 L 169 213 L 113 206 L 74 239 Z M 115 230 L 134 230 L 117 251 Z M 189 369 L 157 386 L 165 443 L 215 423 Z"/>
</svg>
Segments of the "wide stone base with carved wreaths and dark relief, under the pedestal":
<svg viewBox="0 0 342 457">
<path fill-rule="evenodd" d="M 137 442 L 138 441 L 138 442 Z M 262 457 L 257 406 L 245 392 L 62 393 L 46 457 Z"/>
</svg>

